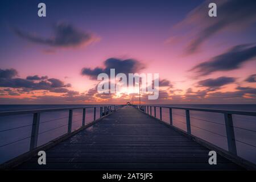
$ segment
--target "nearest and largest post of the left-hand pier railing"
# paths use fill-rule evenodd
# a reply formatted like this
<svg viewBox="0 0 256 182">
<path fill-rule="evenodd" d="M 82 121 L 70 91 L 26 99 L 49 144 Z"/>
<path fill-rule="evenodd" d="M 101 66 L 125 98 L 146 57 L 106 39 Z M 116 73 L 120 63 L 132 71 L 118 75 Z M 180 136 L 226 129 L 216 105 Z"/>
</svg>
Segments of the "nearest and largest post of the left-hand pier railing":
<svg viewBox="0 0 256 182">
<path fill-rule="evenodd" d="M 31 138 L 30 138 L 30 150 L 36 148 L 36 146 L 38 144 L 39 123 L 40 123 L 40 113 L 34 113 Z"/>
</svg>

